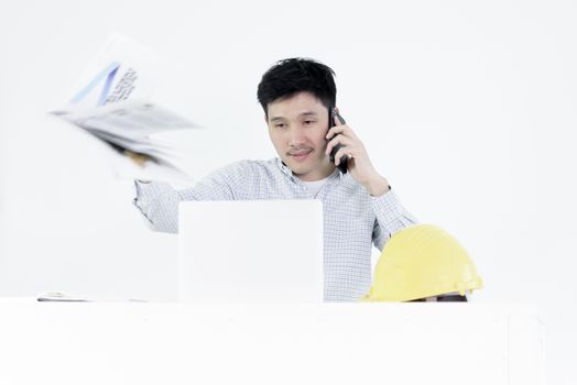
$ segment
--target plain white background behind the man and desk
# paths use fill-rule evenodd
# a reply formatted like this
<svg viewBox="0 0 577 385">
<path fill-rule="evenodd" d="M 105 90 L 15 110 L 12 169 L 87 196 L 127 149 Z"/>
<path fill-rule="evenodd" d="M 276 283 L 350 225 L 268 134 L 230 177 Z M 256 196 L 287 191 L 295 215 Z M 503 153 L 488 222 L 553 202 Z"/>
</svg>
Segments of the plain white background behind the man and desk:
<svg viewBox="0 0 577 385">
<path fill-rule="evenodd" d="M 469 250 L 476 300 L 538 304 L 548 381 L 573 384 L 575 20 L 573 1 L 4 1 L 0 295 L 176 290 L 176 238 L 145 228 L 106 145 L 45 113 L 110 32 L 173 63 L 159 100 L 209 128 L 178 142 L 196 177 L 275 155 L 257 85 L 307 56 L 403 204 Z"/>
</svg>

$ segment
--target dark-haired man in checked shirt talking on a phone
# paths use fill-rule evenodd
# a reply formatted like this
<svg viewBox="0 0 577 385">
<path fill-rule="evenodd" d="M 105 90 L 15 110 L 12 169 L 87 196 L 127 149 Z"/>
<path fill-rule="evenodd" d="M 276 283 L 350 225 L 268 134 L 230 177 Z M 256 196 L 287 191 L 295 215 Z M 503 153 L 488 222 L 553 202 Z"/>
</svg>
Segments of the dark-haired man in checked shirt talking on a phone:
<svg viewBox="0 0 577 385">
<path fill-rule="evenodd" d="M 367 294 L 371 242 L 382 250 L 391 234 L 415 220 L 374 169 L 352 129 L 335 116 L 329 130 L 334 75 L 312 59 L 288 58 L 272 66 L 259 84 L 258 99 L 280 158 L 240 161 L 184 190 L 137 182 L 134 205 L 151 228 L 176 232 L 182 200 L 320 199 L 325 300 L 353 301 Z M 347 162 L 347 173 L 336 167 L 341 162 Z M 298 240 L 293 242 L 297 249 Z"/>
</svg>

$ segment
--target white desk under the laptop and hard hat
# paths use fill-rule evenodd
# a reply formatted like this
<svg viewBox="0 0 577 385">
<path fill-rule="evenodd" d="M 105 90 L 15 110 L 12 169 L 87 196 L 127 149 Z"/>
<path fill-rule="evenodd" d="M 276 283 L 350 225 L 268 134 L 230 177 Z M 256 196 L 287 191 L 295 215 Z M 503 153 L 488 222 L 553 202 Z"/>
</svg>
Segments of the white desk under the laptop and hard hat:
<svg viewBox="0 0 577 385">
<path fill-rule="evenodd" d="M 0 300 L 0 384 L 542 384 L 519 306 Z"/>
</svg>

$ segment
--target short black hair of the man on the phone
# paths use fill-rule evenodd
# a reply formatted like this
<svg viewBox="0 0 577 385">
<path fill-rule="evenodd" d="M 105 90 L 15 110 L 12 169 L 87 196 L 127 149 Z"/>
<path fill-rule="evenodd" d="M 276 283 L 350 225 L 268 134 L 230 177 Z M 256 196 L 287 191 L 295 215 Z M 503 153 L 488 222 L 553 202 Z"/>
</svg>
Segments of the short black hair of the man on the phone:
<svg viewBox="0 0 577 385">
<path fill-rule="evenodd" d="M 285 58 L 264 73 L 257 97 L 268 116 L 270 102 L 287 99 L 303 91 L 313 94 L 327 109 L 335 107 L 337 101 L 335 72 L 311 58 Z"/>
</svg>

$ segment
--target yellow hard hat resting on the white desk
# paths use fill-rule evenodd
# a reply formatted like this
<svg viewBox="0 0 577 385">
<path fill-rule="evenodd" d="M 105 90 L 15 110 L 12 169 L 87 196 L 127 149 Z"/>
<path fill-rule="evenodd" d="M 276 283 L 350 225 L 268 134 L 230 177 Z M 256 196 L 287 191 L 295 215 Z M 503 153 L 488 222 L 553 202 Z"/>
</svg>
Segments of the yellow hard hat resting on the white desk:
<svg viewBox="0 0 577 385">
<path fill-rule="evenodd" d="M 409 301 L 482 288 L 482 279 L 460 243 L 433 224 L 417 224 L 387 242 L 366 301 Z"/>
</svg>

